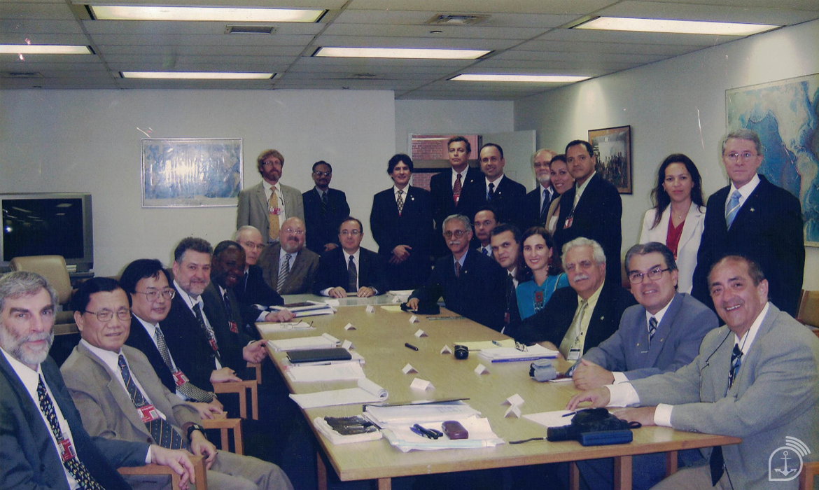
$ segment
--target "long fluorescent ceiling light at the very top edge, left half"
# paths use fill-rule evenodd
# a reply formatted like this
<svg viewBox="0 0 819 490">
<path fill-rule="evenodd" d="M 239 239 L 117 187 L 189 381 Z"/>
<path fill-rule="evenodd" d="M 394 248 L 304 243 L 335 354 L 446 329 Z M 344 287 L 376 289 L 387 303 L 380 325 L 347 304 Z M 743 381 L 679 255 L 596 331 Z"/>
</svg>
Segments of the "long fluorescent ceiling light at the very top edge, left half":
<svg viewBox="0 0 819 490">
<path fill-rule="evenodd" d="M 143 7 L 90 5 L 97 20 L 218 20 L 226 22 L 315 22 L 325 10 L 293 8 Z"/>
</svg>

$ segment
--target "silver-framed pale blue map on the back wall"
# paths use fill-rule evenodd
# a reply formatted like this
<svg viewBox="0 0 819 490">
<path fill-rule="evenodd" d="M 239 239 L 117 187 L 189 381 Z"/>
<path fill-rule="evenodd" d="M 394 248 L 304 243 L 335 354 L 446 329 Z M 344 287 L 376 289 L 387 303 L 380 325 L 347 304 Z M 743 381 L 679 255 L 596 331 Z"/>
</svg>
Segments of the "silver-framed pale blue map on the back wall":
<svg viewBox="0 0 819 490">
<path fill-rule="evenodd" d="M 242 138 L 143 138 L 143 207 L 236 206 Z"/>
</svg>

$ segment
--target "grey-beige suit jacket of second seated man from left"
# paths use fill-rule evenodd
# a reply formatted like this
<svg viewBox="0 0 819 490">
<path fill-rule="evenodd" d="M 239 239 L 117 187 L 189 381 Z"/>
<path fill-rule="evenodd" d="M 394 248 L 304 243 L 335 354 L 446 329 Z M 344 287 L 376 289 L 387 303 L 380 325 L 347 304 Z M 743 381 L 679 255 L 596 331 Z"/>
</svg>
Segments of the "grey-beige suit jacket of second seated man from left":
<svg viewBox="0 0 819 490">
<path fill-rule="evenodd" d="M 165 414 L 165 420 L 182 435 L 183 445 L 187 448 L 188 438 L 182 426 L 189 422 L 201 424 L 196 409 L 165 388 L 142 352 L 124 346 L 122 353 L 131 374 L 142 385 L 143 394 Z M 60 370 L 71 397 L 84 415 L 83 425 L 88 433 L 106 439 L 157 443 L 120 383 L 120 373 L 108 370 L 108 366 L 83 343 L 74 347 L 74 352 Z"/>
</svg>

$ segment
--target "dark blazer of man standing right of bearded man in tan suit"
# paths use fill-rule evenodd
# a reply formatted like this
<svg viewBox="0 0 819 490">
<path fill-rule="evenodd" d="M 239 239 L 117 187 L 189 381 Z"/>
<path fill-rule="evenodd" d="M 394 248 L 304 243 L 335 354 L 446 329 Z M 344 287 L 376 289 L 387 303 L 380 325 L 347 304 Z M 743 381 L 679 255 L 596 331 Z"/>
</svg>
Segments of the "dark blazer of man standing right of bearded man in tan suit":
<svg viewBox="0 0 819 490">
<path fill-rule="evenodd" d="M 305 206 L 305 238 L 306 246 L 313 252 L 324 253 L 326 243 L 338 245 L 338 226 L 342 220 L 350 216 L 350 205 L 343 191 L 334 188 L 327 189 L 328 213 L 321 216 L 321 198 L 319 191 L 311 188 L 301 194 Z"/>
</svg>

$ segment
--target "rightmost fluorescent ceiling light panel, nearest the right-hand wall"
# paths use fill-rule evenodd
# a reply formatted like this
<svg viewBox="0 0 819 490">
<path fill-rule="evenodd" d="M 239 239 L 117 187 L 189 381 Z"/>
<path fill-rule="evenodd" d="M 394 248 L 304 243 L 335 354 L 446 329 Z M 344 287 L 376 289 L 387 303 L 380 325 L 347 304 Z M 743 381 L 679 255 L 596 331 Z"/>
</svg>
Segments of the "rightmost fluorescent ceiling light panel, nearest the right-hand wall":
<svg viewBox="0 0 819 490">
<path fill-rule="evenodd" d="M 726 36 L 749 36 L 779 25 L 740 24 L 738 22 L 712 22 L 710 20 L 636 19 L 627 17 L 598 17 L 574 26 L 573 29 L 626 30 L 635 32 L 659 32 L 667 34 L 719 34 Z"/>
</svg>

